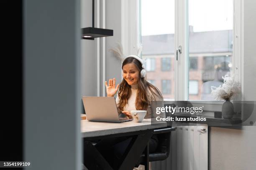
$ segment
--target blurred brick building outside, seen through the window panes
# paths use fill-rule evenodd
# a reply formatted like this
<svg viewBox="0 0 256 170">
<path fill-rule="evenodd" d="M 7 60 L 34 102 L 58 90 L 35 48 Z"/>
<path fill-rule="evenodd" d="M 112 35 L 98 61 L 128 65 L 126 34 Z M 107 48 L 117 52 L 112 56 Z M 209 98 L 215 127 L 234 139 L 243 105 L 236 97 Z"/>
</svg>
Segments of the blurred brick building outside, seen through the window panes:
<svg viewBox="0 0 256 170">
<path fill-rule="evenodd" d="M 147 80 L 156 85 L 165 100 L 174 99 L 174 34 L 141 38 Z M 210 86 L 223 84 L 232 67 L 232 30 L 189 32 L 189 100 L 213 100 Z"/>
</svg>

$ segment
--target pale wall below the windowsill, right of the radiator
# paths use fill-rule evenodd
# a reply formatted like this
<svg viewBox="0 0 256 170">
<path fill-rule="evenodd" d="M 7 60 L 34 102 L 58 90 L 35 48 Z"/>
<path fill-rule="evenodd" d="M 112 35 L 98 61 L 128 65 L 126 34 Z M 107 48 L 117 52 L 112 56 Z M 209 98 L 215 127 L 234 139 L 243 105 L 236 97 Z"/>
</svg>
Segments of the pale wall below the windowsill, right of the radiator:
<svg viewBox="0 0 256 170">
<path fill-rule="evenodd" d="M 256 166 L 256 128 L 211 128 L 210 170 L 253 170 Z"/>
</svg>

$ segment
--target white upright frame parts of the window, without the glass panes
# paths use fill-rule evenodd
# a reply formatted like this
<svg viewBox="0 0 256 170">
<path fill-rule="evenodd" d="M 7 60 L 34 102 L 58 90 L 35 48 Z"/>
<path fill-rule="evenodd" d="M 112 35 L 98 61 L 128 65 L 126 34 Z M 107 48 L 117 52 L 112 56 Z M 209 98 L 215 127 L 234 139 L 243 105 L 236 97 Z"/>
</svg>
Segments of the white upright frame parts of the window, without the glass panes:
<svg viewBox="0 0 256 170">
<path fill-rule="evenodd" d="M 125 53 L 137 53 L 141 47 L 141 27 L 140 27 L 140 5 L 141 0 L 121 0 L 122 20 L 121 20 L 121 42 Z M 188 33 L 186 29 L 188 22 L 187 0 L 175 0 L 175 34 L 174 51 L 182 46 L 182 54 L 178 60 L 174 60 L 174 100 L 184 101 L 189 95 L 189 68 L 188 68 Z M 233 0 L 233 55 L 232 70 L 235 79 L 241 82 L 243 100 L 243 53 L 244 53 L 244 2 L 243 0 Z M 135 19 L 136 18 L 136 19 Z M 130 36 L 128 36 L 130 35 Z M 176 54 L 174 56 L 176 58 Z M 237 69 L 236 69 L 237 67 Z M 197 101 L 189 100 L 192 103 Z M 201 101 L 200 101 L 201 103 Z M 205 101 L 207 105 L 222 105 L 223 101 Z M 217 104 L 216 104 L 217 103 Z M 212 107 L 212 106 L 210 106 Z M 209 108 L 210 108 L 209 107 Z"/>
</svg>

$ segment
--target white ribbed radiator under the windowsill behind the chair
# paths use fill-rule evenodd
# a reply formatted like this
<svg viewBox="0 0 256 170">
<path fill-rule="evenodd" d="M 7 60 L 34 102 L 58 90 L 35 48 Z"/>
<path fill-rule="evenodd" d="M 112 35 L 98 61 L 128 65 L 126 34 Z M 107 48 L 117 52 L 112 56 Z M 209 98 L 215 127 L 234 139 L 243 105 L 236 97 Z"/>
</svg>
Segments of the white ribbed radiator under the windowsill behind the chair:
<svg viewBox="0 0 256 170">
<path fill-rule="evenodd" d="M 152 162 L 151 170 L 208 170 L 208 127 L 173 126 L 171 151 L 164 161 Z"/>
</svg>

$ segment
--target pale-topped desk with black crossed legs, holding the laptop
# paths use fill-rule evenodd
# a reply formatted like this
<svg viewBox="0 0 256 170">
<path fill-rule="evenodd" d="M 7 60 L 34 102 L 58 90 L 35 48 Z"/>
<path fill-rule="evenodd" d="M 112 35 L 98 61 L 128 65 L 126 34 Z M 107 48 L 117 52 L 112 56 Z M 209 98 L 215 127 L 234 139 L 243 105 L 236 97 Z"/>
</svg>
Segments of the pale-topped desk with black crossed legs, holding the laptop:
<svg viewBox="0 0 256 170">
<path fill-rule="evenodd" d="M 125 151 L 123 159 L 118 163 L 119 170 L 132 170 L 153 135 L 154 129 L 164 128 L 166 125 L 166 122 L 151 124 L 151 119 L 144 119 L 143 122 L 133 120 L 122 123 L 81 120 L 81 135 L 84 139 L 84 165 L 89 170 L 93 170 L 95 166 L 91 162 L 95 161 L 97 166 L 106 170 L 113 170 L 91 140 L 133 135 L 134 137 Z M 148 153 L 146 154 L 148 155 Z"/>
</svg>

